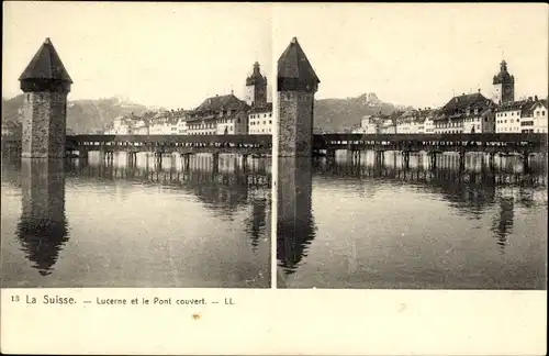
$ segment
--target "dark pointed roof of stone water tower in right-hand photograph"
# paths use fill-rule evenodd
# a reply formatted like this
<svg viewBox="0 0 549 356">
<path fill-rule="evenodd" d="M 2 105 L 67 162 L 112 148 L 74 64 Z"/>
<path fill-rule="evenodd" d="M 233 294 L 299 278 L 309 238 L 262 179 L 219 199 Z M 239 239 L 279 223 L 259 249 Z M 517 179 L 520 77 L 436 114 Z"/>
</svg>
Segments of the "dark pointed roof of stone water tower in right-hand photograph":
<svg viewBox="0 0 549 356">
<path fill-rule="evenodd" d="M 314 85 L 321 82 L 296 37 L 292 38 L 290 45 L 278 59 L 278 78 L 294 79 Z"/>
</svg>

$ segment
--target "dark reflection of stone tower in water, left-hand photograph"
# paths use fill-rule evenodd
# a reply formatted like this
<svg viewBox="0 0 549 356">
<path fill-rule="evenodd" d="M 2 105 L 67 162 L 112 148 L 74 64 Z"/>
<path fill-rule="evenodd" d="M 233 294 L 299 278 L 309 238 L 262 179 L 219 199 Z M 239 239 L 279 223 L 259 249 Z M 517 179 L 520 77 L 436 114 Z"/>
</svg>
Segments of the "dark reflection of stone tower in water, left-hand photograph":
<svg viewBox="0 0 549 356">
<path fill-rule="evenodd" d="M 52 274 L 68 241 L 63 159 L 22 159 L 22 213 L 16 234 L 26 258 L 43 276 Z"/>
</svg>

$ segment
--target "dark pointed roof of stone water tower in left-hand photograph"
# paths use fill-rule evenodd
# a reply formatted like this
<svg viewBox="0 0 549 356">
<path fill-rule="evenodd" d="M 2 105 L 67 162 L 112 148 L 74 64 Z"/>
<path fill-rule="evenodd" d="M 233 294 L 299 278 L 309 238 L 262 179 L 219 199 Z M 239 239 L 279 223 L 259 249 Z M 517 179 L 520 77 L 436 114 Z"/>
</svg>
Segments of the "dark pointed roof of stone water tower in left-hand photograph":
<svg viewBox="0 0 549 356">
<path fill-rule="evenodd" d="M 33 79 L 60 80 L 72 84 L 72 79 L 65 69 L 49 37 L 44 41 L 21 77 L 19 77 L 20 81 Z"/>
</svg>

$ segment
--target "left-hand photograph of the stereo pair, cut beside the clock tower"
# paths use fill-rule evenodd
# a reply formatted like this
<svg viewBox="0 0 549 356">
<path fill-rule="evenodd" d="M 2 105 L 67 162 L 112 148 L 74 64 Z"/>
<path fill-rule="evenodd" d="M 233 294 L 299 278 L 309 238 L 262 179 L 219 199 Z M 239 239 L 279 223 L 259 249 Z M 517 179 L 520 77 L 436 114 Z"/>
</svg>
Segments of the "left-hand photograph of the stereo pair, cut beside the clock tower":
<svg viewBox="0 0 549 356">
<path fill-rule="evenodd" d="M 1 286 L 270 288 L 266 4 L 8 2 Z"/>
</svg>

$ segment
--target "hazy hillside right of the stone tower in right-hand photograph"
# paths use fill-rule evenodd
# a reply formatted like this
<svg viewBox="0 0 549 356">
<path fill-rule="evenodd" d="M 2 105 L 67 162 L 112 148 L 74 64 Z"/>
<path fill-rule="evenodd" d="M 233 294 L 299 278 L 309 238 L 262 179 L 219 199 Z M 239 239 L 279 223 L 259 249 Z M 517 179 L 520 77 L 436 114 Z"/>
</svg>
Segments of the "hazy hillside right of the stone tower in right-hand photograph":
<svg viewBox="0 0 549 356">
<path fill-rule="evenodd" d="M 357 98 L 321 99 L 315 102 L 314 127 L 315 132 L 350 132 L 360 125 L 365 115 L 378 113 L 391 114 L 396 110 L 406 110 L 411 107 L 396 107 L 382 102 L 370 92 Z"/>
</svg>

